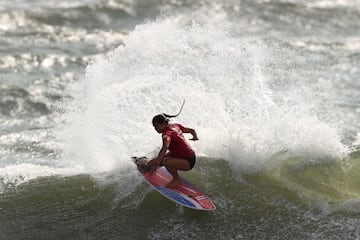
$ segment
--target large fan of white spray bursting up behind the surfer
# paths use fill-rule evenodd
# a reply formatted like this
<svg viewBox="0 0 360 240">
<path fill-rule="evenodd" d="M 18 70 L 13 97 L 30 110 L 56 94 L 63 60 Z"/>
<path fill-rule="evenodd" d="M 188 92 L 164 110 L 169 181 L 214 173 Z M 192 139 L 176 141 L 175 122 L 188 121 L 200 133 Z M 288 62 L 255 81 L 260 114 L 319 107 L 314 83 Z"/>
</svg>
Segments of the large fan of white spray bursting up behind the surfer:
<svg viewBox="0 0 360 240">
<path fill-rule="evenodd" d="M 282 56 L 228 29 L 226 21 L 159 19 L 138 26 L 110 56 L 94 59 L 74 85 L 74 108 L 66 115 L 69 161 L 95 172 L 130 166 L 132 155 L 161 144 L 152 116 L 176 112 L 183 99 L 176 121 L 197 129 L 197 152 L 246 171 L 262 170 L 283 150 L 342 157 L 338 129 L 320 120 L 307 98 L 312 89 L 273 91 L 263 72 Z"/>
</svg>

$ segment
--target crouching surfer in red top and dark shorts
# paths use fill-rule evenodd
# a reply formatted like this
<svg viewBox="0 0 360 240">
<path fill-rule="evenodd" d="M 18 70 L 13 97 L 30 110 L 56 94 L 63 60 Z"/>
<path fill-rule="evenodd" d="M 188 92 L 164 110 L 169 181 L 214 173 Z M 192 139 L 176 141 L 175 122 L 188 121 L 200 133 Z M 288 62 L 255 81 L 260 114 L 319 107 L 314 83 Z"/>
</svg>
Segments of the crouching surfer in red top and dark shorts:
<svg viewBox="0 0 360 240">
<path fill-rule="evenodd" d="M 158 166 L 165 166 L 173 176 L 173 179 L 166 185 L 168 188 L 180 183 L 178 170 L 189 171 L 195 165 L 195 152 L 185 140 L 183 133 L 192 135 L 189 140 L 199 140 L 194 129 L 178 123 L 169 123 L 170 117 L 175 116 L 159 114 L 152 119 L 155 130 L 162 134 L 162 147 L 158 156 L 148 162 L 151 173 L 155 172 Z"/>
</svg>

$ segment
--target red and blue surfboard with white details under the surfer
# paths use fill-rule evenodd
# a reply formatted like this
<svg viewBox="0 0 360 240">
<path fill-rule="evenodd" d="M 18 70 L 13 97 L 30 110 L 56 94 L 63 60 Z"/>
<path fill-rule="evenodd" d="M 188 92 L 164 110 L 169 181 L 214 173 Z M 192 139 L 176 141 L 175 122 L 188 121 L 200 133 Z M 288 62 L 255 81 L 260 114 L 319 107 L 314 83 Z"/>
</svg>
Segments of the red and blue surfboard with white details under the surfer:
<svg viewBox="0 0 360 240">
<path fill-rule="evenodd" d="M 159 167 L 151 174 L 150 168 L 146 165 L 148 161 L 146 157 L 134 157 L 133 160 L 145 181 L 164 197 L 192 209 L 207 211 L 216 209 L 210 198 L 184 178 L 181 178 L 181 183 L 175 187 L 167 188 L 165 186 L 171 181 L 172 176 L 165 167 Z"/>
</svg>

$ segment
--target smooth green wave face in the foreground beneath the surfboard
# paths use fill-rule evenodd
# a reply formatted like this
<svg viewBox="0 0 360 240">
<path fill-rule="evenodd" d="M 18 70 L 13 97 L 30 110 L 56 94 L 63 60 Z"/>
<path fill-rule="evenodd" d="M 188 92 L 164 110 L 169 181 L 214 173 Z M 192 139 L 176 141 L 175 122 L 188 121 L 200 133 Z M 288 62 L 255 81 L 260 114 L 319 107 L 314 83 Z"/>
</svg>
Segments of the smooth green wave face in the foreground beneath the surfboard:
<svg viewBox="0 0 360 240">
<path fill-rule="evenodd" d="M 350 160 L 354 168 L 358 161 Z M 2 238 L 356 239 L 357 171 L 338 164 L 294 168 L 287 163 L 239 179 L 226 161 L 200 158 L 183 175 L 213 199 L 212 212 L 177 206 L 144 182 L 123 196 L 117 183 L 89 175 L 39 178 L 3 193 Z"/>
</svg>

